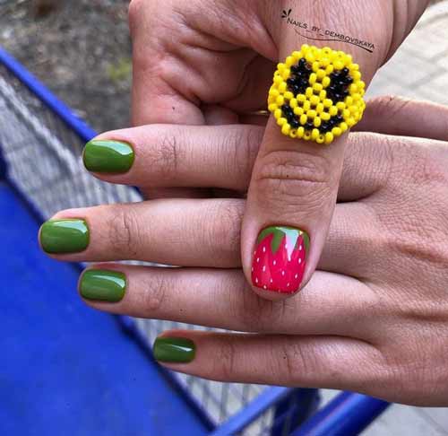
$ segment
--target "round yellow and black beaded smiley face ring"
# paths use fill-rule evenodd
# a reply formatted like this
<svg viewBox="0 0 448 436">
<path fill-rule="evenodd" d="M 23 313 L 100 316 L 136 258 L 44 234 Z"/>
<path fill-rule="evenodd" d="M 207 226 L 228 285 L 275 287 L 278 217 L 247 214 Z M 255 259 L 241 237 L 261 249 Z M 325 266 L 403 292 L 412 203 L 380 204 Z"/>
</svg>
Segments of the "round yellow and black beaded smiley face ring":
<svg viewBox="0 0 448 436">
<path fill-rule="evenodd" d="M 331 144 L 362 118 L 365 87 L 350 55 L 304 44 L 277 65 L 268 109 L 283 135 Z"/>
</svg>

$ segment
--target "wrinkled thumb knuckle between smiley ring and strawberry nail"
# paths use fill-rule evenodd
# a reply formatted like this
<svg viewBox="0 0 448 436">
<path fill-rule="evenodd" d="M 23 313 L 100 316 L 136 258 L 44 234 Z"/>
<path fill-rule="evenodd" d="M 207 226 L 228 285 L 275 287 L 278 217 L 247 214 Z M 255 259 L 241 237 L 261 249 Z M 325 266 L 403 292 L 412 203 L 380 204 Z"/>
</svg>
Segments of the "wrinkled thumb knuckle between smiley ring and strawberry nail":
<svg viewBox="0 0 448 436">
<path fill-rule="evenodd" d="M 261 158 L 255 176 L 257 195 L 271 207 L 285 213 L 290 207 L 307 206 L 314 213 L 322 208 L 337 187 L 332 161 L 326 157 L 303 152 L 275 151 Z M 336 171 L 338 172 L 338 171 Z"/>
</svg>

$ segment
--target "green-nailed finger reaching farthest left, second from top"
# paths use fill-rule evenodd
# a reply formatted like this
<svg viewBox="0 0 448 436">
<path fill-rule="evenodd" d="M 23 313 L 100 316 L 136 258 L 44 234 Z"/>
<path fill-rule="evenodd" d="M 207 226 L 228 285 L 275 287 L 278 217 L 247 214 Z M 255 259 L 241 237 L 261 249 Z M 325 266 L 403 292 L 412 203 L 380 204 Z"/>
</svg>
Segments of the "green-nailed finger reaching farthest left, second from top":
<svg viewBox="0 0 448 436">
<path fill-rule="evenodd" d="M 42 225 L 39 240 L 47 254 L 65 261 L 234 267 L 244 205 L 176 198 L 69 209 Z"/>
</svg>

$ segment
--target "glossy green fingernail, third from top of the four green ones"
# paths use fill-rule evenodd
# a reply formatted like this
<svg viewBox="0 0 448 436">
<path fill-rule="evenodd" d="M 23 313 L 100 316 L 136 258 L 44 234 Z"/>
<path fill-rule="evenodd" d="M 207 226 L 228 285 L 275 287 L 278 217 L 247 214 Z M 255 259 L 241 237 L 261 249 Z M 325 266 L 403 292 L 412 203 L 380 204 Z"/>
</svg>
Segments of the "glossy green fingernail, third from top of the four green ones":
<svg viewBox="0 0 448 436">
<path fill-rule="evenodd" d="M 88 269 L 81 277 L 80 292 L 87 300 L 116 302 L 125 291 L 126 276 L 118 271 Z"/>
</svg>

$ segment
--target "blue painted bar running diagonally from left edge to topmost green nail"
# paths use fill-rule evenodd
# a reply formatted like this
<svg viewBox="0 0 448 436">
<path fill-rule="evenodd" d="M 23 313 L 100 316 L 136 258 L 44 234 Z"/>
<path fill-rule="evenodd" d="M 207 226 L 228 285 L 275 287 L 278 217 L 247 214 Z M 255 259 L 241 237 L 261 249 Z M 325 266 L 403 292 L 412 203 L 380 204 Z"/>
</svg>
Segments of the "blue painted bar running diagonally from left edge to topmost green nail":
<svg viewBox="0 0 448 436">
<path fill-rule="evenodd" d="M 0 64 L 4 65 L 14 74 L 27 88 L 41 100 L 47 108 L 55 112 L 71 130 L 82 137 L 82 141 L 88 142 L 96 132 L 88 126 L 81 118 L 78 118 L 73 111 L 53 92 L 31 74 L 20 62 L 12 57 L 4 48 L 0 47 Z"/>
</svg>

